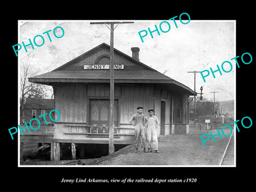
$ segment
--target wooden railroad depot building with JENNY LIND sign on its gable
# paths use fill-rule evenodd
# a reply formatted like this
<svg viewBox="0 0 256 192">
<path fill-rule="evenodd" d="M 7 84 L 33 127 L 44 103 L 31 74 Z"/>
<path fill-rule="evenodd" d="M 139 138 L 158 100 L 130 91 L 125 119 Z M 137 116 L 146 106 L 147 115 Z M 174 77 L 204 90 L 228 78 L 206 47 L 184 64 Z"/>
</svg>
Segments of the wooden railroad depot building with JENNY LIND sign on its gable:
<svg viewBox="0 0 256 192">
<path fill-rule="evenodd" d="M 188 97 L 196 95 L 189 87 L 140 62 L 138 47 L 131 51 L 132 57 L 114 49 L 116 150 L 134 143 L 129 119 L 138 106 L 143 107 L 145 115 L 149 109 L 155 110 L 161 124 L 158 136 L 188 133 Z M 89 147 L 91 144 L 106 144 L 108 149 L 109 63 L 110 46 L 102 43 L 49 73 L 29 78 L 30 82 L 53 87 L 54 109 L 60 112 L 60 119 L 54 123 L 52 160 L 62 158 L 65 145 L 76 148 L 78 157 L 90 150 L 97 153 L 95 147 Z"/>
</svg>

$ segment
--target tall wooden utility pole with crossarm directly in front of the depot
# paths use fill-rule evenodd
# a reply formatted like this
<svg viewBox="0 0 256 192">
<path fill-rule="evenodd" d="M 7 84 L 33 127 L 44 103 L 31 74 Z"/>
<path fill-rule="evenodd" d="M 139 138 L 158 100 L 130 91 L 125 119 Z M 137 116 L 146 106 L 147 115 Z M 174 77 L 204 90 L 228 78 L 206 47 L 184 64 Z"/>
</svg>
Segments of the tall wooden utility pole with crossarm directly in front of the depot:
<svg viewBox="0 0 256 192">
<path fill-rule="evenodd" d="M 109 142 L 108 142 L 108 154 L 114 153 L 114 30 L 119 24 L 134 23 L 134 22 L 90 22 L 90 24 L 108 24 L 110 25 L 110 104 L 109 104 Z M 114 24 L 117 24 L 114 28 Z"/>
</svg>

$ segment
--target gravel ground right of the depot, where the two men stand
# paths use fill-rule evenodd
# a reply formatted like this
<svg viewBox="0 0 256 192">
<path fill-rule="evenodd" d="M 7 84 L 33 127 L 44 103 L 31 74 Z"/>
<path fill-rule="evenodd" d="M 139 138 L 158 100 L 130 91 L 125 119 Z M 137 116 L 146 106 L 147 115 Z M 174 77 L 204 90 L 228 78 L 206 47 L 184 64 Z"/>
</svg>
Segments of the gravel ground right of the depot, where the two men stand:
<svg viewBox="0 0 256 192">
<path fill-rule="evenodd" d="M 98 165 L 218 165 L 229 137 L 215 137 L 215 143 L 210 138 L 204 147 L 200 135 L 205 133 L 210 131 L 162 136 L 158 139 L 159 154 L 143 153 L 142 149 L 134 153 L 133 148 Z M 212 133 L 216 134 L 217 131 L 213 130 Z M 225 132 L 227 135 L 229 133 Z M 230 142 L 233 142 L 234 148 L 234 139 Z M 233 158 L 233 161 L 228 161 L 228 158 Z M 234 165 L 234 156 L 227 156 L 226 160 L 225 165 Z"/>
</svg>

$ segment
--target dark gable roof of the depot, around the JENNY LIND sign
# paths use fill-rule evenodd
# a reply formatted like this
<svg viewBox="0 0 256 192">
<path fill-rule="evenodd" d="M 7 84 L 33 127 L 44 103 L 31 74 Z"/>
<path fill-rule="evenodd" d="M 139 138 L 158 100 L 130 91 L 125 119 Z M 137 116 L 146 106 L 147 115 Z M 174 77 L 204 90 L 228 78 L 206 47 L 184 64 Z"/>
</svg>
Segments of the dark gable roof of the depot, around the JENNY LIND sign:
<svg viewBox="0 0 256 192">
<path fill-rule="evenodd" d="M 109 83 L 110 70 L 83 69 L 84 65 L 94 65 L 97 58 L 101 55 L 109 55 L 109 52 L 110 46 L 106 43 L 102 43 L 49 73 L 30 77 L 29 82 L 47 85 L 63 82 Z M 188 91 L 190 95 L 196 95 L 196 92 L 189 89 L 186 85 L 175 81 L 115 48 L 114 58 L 115 64 L 124 65 L 124 69 L 114 71 L 115 83 L 175 84 Z"/>
</svg>

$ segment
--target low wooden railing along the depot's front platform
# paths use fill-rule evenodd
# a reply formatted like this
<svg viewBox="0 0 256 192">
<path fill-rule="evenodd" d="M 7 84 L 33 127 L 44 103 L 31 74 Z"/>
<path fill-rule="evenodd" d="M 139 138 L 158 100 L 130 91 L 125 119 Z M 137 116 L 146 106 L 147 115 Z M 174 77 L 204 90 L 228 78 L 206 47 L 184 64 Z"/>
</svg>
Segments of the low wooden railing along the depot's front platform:
<svg viewBox="0 0 256 192">
<path fill-rule="evenodd" d="M 66 134 L 99 134 L 108 135 L 109 126 L 86 125 L 86 124 L 65 124 L 68 126 Z M 75 129 L 74 129 L 75 128 Z M 114 126 L 114 135 L 134 135 L 133 127 Z"/>
</svg>

